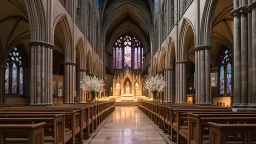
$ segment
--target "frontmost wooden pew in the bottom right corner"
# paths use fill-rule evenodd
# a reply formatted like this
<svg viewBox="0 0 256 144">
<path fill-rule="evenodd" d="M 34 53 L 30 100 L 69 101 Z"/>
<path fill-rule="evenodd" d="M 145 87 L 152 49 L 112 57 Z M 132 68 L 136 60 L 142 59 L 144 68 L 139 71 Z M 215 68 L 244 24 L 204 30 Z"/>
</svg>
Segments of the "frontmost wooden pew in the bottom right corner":
<svg viewBox="0 0 256 144">
<path fill-rule="evenodd" d="M 209 124 L 209 143 L 226 144 L 226 143 L 256 143 L 256 124 L 220 124 L 208 122 Z M 228 141 L 228 135 L 240 134 L 235 142 Z"/>
</svg>

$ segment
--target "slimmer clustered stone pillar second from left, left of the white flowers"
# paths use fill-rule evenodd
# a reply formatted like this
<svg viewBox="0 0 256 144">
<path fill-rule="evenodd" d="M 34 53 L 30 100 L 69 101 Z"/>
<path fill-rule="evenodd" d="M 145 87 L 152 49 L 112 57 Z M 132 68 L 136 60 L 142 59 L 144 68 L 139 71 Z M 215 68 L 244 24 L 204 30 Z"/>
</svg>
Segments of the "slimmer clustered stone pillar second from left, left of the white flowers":
<svg viewBox="0 0 256 144">
<path fill-rule="evenodd" d="M 64 62 L 64 103 L 74 103 L 75 62 Z"/>
</svg>

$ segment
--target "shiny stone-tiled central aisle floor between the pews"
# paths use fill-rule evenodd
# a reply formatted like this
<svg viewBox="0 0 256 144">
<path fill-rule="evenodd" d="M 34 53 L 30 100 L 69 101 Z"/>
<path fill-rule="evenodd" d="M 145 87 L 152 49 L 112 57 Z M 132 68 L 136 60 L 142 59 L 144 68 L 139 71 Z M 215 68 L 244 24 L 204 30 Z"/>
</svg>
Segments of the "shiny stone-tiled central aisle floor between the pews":
<svg viewBox="0 0 256 144">
<path fill-rule="evenodd" d="M 165 144 L 160 133 L 136 107 L 115 107 L 90 144 L 139 143 Z"/>
</svg>

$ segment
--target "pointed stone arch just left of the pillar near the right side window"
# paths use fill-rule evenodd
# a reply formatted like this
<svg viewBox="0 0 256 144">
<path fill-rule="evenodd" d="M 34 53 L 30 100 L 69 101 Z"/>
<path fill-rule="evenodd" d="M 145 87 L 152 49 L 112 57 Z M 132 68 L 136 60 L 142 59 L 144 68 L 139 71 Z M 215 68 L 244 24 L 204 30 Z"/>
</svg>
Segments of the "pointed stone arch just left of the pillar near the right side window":
<svg viewBox="0 0 256 144">
<path fill-rule="evenodd" d="M 192 30 L 192 35 L 189 33 L 190 32 L 189 30 Z M 188 44 L 193 40 L 193 43 L 195 45 L 194 35 L 195 35 L 195 31 L 194 31 L 192 22 L 187 18 L 183 18 L 181 29 L 179 31 L 179 43 L 178 43 L 178 50 L 177 50 L 178 54 L 176 57 L 178 61 L 187 59 Z M 193 38 L 191 36 L 193 36 Z"/>
</svg>

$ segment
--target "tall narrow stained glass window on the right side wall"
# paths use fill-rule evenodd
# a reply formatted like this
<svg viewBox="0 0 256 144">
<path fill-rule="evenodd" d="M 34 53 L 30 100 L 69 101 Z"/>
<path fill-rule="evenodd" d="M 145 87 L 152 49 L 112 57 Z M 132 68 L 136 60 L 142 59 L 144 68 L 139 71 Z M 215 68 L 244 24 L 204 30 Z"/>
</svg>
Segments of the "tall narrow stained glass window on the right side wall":
<svg viewBox="0 0 256 144">
<path fill-rule="evenodd" d="M 232 92 L 232 65 L 231 58 L 232 53 L 231 50 L 225 50 L 221 53 L 220 57 L 220 89 L 219 94 L 229 94 Z"/>
</svg>

